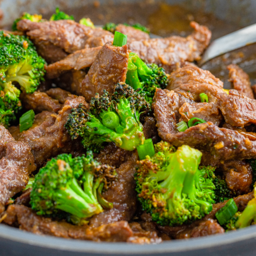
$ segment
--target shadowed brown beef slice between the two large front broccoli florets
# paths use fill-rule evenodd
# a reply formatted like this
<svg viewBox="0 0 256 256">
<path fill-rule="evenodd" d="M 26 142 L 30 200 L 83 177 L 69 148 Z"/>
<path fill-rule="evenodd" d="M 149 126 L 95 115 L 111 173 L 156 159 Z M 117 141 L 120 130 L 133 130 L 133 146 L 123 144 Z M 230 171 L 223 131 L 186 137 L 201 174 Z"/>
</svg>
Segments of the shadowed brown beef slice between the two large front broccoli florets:
<svg viewBox="0 0 256 256">
<path fill-rule="evenodd" d="M 113 208 L 94 215 L 90 226 L 98 227 L 115 221 L 130 221 L 136 211 L 136 192 L 133 174 L 135 173 L 138 154 L 133 152 L 127 162 L 116 169 L 118 181 L 113 181 L 111 187 L 103 193 L 103 197 L 113 203 Z"/>
</svg>

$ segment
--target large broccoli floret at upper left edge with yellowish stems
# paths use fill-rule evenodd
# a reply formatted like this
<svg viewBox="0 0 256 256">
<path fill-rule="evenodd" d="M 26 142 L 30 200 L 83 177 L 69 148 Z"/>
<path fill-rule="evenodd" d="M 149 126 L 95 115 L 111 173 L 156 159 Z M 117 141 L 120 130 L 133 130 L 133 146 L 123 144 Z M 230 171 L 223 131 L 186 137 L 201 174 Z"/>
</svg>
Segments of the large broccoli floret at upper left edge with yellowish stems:
<svg viewBox="0 0 256 256">
<path fill-rule="evenodd" d="M 27 37 L 0 32 L 1 83 L 19 83 L 23 91 L 33 93 L 44 80 L 45 64 Z"/>
</svg>

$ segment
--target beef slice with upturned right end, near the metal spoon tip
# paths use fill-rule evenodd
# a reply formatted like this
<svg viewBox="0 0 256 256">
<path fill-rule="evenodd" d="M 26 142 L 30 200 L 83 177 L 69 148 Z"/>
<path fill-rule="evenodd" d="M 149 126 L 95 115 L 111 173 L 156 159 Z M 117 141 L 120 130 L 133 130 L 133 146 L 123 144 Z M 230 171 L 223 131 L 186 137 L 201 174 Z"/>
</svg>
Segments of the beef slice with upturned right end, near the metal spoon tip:
<svg viewBox="0 0 256 256">
<path fill-rule="evenodd" d="M 190 25 L 195 32 L 187 38 L 172 36 L 132 41 L 128 43 L 128 47 L 144 61 L 173 68 L 180 62 L 199 60 L 200 54 L 209 44 L 211 32 L 196 22 L 191 22 Z"/>
</svg>

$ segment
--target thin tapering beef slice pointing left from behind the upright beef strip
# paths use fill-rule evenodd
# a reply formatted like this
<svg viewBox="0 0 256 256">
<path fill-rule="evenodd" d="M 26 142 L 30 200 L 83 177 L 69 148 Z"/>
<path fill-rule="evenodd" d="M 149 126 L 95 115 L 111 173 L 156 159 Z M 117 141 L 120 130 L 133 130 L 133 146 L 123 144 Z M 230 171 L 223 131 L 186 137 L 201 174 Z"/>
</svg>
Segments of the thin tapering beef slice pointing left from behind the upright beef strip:
<svg viewBox="0 0 256 256">
<path fill-rule="evenodd" d="M 78 50 L 69 54 L 65 59 L 45 66 L 46 76 L 49 79 L 53 79 L 60 76 L 63 72 L 71 69 L 80 70 L 90 67 L 95 61 L 100 49 L 101 46 Z"/>
</svg>

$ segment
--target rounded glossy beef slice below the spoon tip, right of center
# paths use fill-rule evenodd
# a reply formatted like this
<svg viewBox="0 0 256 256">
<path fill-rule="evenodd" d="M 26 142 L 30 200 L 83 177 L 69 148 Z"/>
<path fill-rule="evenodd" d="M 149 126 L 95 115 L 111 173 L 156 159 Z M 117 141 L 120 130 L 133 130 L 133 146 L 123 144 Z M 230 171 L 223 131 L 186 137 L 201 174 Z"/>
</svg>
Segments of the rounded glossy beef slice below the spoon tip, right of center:
<svg viewBox="0 0 256 256">
<path fill-rule="evenodd" d="M 201 102 L 200 93 L 207 94 L 209 102 L 215 102 L 216 95 L 223 93 L 223 83 L 219 78 L 194 65 L 178 68 L 168 79 L 166 89 L 181 93 L 197 102 Z"/>
</svg>

